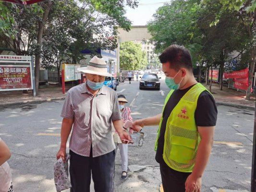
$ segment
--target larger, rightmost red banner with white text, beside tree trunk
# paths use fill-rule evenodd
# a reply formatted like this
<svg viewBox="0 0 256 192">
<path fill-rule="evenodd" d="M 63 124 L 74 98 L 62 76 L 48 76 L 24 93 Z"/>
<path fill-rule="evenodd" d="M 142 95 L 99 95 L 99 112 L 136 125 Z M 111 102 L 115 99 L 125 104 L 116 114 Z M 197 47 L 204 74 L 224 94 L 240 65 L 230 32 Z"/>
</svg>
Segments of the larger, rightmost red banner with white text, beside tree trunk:
<svg viewBox="0 0 256 192">
<path fill-rule="evenodd" d="M 242 90 L 248 88 L 248 68 L 237 72 L 224 72 L 225 78 L 232 78 L 234 81 L 234 87 Z"/>
</svg>

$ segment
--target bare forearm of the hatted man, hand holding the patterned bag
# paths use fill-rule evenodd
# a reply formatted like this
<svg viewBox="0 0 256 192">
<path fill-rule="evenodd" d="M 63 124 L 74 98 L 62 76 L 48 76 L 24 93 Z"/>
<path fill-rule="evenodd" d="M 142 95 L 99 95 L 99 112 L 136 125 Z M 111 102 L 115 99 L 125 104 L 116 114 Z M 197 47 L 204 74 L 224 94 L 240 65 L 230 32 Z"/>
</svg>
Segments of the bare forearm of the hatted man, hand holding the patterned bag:
<svg viewBox="0 0 256 192">
<path fill-rule="evenodd" d="M 72 129 L 73 125 L 73 119 L 65 119 L 63 118 L 62 124 L 61 124 L 61 147 L 59 152 L 57 153 L 56 157 L 59 159 L 60 157 L 62 160 L 65 160 L 66 157 L 66 145 L 68 141 L 69 134 Z"/>
</svg>

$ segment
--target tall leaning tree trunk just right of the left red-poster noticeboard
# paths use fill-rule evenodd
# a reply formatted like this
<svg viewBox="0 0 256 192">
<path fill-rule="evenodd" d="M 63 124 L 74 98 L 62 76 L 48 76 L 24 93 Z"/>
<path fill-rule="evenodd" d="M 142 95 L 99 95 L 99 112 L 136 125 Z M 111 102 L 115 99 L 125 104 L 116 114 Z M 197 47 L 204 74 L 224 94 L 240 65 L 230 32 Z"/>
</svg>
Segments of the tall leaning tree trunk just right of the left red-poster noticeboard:
<svg viewBox="0 0 256 192">
<path fill-rule="evenodd" d="M 52 1 L 49 0 L 48 4 L 46 6 L 46 10 L 43 15 L 42 21 L 38 22 L 38 34 L 37 34 L 37 45 L 38 45 L 38 52 L 35 57 L 35 81 L 36 81 L 36 90 L 37 90 L 37 95 L 38 95 L 38 88 L 39 88 L 39 76 L 40 76 L 40 53 L 41 53 L 41 46 L 42 46 L 42 41 L 43 41 L 43 31 L 44 31 L 44 26 L 46 23 L 46 20 L 48 18 L 50 8 L 52 5 Z"/>
</svg>

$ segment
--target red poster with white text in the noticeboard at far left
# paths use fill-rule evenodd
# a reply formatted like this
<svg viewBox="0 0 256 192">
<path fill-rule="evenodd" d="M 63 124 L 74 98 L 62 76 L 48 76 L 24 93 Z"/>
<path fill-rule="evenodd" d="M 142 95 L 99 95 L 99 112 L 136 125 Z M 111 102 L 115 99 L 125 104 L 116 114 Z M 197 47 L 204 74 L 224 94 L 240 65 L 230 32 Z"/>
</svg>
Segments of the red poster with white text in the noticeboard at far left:
<svg viewBox="0 0 256 192">
<path fill-rule="evenodd" d="M 33 89 L 30 66 L 0 65 L 0 91 L 6 89 Z"/>
</svg>

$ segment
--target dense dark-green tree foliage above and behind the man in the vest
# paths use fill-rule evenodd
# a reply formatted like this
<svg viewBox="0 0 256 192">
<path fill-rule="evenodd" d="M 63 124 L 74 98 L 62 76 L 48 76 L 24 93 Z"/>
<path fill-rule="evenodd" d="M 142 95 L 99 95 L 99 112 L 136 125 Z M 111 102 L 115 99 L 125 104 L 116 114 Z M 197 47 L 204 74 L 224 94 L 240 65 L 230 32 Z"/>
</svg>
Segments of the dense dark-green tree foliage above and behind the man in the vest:
<svg viewBox="0 0 256 192">
<path fill-rule="evenodd" d="M 219 65 L 220 89 L 224 64 L 234 58 L 239 63 L 246 62 L 250 42 L 247 22 L 231 10 L 223 10 L 221 1 L 176 0 L 160 7 L 148 24 L 156 52 L 162 52 L 171 44 L 184 45 L 199 71 Z"/>
</svg>

